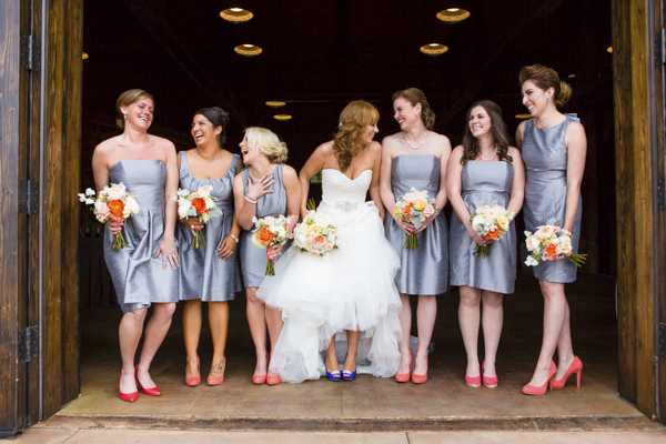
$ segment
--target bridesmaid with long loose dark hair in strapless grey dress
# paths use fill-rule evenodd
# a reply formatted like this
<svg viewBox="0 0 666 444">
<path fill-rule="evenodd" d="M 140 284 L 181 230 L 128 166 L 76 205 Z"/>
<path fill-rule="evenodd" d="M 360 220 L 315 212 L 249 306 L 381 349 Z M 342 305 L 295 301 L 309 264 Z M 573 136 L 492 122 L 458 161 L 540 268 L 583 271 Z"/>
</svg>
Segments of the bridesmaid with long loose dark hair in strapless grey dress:
<svg viewBox="0 0 666 444">
<path fill-rule="evenodd" d="M 451 216 L 451 285 L 458 285 L 458 321 L 472 387 L 497 386 L 495 355 L 502 334 L 502 297 L 514 292 L 516 281 L 516 229 L 497 242 L 480 236 L 470 223 L 478 206 L 496 202 L 517 214 L 523 206 L 525 168 L 521 152 L 509 147 L 502 110 L 480 100 L 467 110 L 463 144 L 448 161 L 446 189 L 454 213 Z M 492 244 L 491 244 L 492 243 Z M 488 256 L 474 255 L 477 245 L 488 245 Z M 481 304 L 483 303 L 483 315 Z M 481 322 L 480 322 L 481 321 Z M 478 365 L 478 326 L 483 325 L 484 363 Z"/>
</svg>

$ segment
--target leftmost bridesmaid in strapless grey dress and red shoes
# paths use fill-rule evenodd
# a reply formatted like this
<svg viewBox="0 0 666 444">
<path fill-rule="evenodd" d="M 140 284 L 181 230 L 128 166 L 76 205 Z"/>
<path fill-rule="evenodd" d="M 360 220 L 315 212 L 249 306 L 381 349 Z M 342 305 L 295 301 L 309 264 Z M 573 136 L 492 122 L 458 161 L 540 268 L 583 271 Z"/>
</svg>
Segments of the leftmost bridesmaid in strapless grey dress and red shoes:
<svg viewBox="0 0 666 444">
<path fill-rule="evenodd" d="M 122 357 L 120 398 L 134 402 L 139 396 L 137 383 L 147 395 L 161 394 L 149 370 L 171 326 L 178 302 L 176 210 L 172 200 L 178 190 L 178 165 L 173 143 L 148 133 L 154 110 L 150 93 L 137 89 L 125 91 L 118 98 L 115 108 L 122 134 L 97 145 L 92 173 L 98 191 L 110 183 L 122 182 L 139 198 L 141 206 L 139 214 L 124 224 L 107 222 L 104 228 L 104 261 L 123 312 L 118 331 Z M 111 250 L 113 234 L 121 231 L 127 246 Z M 151 304 L 154 304 L 153 312 L 145 326 L 139 363 L 134 366 Z"/>
</svg>

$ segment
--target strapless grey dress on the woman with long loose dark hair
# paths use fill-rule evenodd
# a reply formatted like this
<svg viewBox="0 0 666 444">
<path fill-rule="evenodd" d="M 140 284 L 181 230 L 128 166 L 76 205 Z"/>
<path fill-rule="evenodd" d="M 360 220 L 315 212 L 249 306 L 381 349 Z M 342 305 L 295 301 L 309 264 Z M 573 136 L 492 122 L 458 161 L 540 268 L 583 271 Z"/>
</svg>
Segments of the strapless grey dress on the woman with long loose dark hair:
<svg viewBox="0 0 666 444">
<path fill-rule="evenodd" d="M 462 196 L 470 213 L 478 206 L 506 208 L 511 200 L 513 165 L 508 162 L 468 161 L 463 167 Z M 451 215 L 451 285 L 467 285 L 509 294 L 516 282 L 516 228 L 511 223 L 504 238 L 488 245 L 488 255 L 474 255 L 476 242 L 453 212 Z"/>
</svg>

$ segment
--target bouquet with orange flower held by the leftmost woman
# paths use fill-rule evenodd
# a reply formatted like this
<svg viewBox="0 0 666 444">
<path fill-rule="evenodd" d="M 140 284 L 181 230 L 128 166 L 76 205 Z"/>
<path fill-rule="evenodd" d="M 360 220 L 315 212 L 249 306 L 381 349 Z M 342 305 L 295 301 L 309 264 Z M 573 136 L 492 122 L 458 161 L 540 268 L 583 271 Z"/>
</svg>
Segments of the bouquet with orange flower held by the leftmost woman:
<svg viewBox="0 0 666 444">
<path fill-rule="evenodd" d="M 139 203 L 137 196 L 128 193 L 124 183 L 112 183 L 100 191 L 99 196 L 94 198 L 95 192 L 92 189 L 85 189 L 85 192 L 79 193 L 79 200 L 87 205 L 93 205 L 91 209 L 98 221 L 107 223 L 109 220 L 123 222 L 132 214 L 139 214 Z M 120 250 L 127 246 L 122 231 L 113 235 L 111 249 Z"/>
</svg>

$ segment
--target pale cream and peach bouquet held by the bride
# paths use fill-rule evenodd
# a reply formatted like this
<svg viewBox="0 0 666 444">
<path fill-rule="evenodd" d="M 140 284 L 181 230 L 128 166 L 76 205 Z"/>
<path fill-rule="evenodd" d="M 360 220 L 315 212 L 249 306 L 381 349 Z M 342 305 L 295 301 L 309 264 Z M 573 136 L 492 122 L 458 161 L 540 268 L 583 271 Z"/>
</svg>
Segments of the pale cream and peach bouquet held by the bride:
<svg viewBox="0 0 666 444">
<path fill-rule="evenodd" d="M 294 229 L 294 245 L 313 256 L 326 258 L 329 252 L 337 246 L 337 226 L 317 213 L 314 201 L 307 201 L 310 214 Z"/>
</svg>

